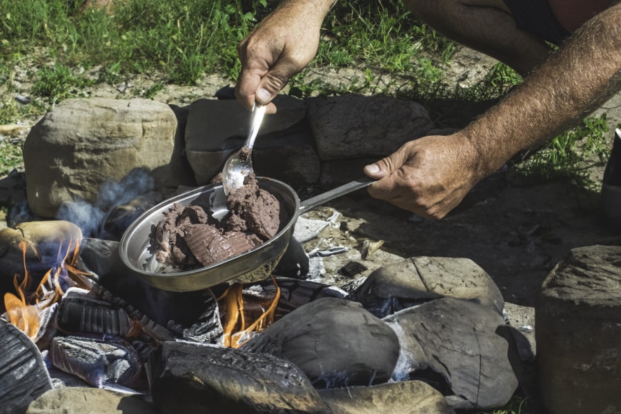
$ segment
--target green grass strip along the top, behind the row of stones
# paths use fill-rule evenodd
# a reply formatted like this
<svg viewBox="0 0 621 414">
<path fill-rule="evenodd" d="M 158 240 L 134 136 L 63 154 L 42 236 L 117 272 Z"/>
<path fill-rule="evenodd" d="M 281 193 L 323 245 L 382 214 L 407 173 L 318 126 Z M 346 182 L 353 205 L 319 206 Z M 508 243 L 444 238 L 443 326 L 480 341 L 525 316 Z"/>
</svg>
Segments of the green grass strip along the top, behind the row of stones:
<svg viewBox="0 0 621 414">
<path fill-rule="evenodd" d="M 10 66 L 39 56 L 32 73 L 47 101 L 70 96 L 83 72 L 102 66 L 97 81 L 110 83 L 128 73 L 158 72 L 162 82 L 195 84 L 206 73 L 235 79 L 237 43 L 277 1 L 124 0 L 112 15 L 82 9 L 84 0 L 0 0 L 0 63 Z M 449 59 L 453 43 L 416 22 L 399 1 L 341 1 L 324 23 L 324 39 L 312 66 L 368 66 L 406 72 L 421 82 L 437 81 L 430 55 Z M 44 62 L 52 68 L 43 68 Z M 68 71 L 66 68 L 71 68 Z M 301 89 L 304 77 L 294 79 Z M 360 88 L 358 88 L 360 89 Z M 334 92 L 334 91 L 333 91 Z M 346 91 L 341 91 L 346 92 Z"/>
</svg>

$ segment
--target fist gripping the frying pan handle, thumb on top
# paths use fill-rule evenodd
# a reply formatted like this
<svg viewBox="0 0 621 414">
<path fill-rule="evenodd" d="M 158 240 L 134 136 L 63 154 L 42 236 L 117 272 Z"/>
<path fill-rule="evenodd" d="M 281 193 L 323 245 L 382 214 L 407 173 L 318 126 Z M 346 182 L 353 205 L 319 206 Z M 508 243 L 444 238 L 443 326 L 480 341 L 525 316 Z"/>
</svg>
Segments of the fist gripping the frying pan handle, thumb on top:
<svg viewBox="0 0 621 414">
<path fill-rule="evenodd" d="M 428 219 L 439 220 L 464 199 L 483 177 L 479 152 L 471 141 L 454 135 L 409 141 L 392 155 L 366 166 L 378 179 L 368 193 Z"/>
</svg>

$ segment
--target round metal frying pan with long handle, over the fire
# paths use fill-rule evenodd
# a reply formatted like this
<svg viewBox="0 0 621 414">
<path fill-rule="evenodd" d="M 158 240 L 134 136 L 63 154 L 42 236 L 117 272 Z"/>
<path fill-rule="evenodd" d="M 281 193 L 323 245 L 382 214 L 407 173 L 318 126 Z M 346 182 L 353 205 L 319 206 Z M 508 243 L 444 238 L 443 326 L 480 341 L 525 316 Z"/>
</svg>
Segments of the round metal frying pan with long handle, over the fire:
<svg viewBox="0 0 621 414">
<path fill-rule="evenodd" d="M 150 236 L 164 217 L 164 213 L 173 204 L 177 203 L 180 206 L 199 204 L 217 218 L 228 213 L 222 184 L 211 184 L 162 201 L 140 215 L 121 238 L 119 244 L 121 260 L 148 284 L 175 292 L 202 290 L 224 282 L 242 284 L 258 282 L 269 277 L 278 264 L 289 244 L 291 235 L 293 235 L 293 228 L 299 215 L 326 201 L 351 193 L 374 182 L 368 178 L 355 180 L 300 202 L 293 188 L 282 181 L 265 177 L 257 177 L 257 181 L 260 188 L 267 190 L 279 200 L 282 212 L 280 230 L 264 244 L 210 266 L 177 273 L 158 273 L 156 271 L 159 264 L 150 251 Z"/>
</svg>

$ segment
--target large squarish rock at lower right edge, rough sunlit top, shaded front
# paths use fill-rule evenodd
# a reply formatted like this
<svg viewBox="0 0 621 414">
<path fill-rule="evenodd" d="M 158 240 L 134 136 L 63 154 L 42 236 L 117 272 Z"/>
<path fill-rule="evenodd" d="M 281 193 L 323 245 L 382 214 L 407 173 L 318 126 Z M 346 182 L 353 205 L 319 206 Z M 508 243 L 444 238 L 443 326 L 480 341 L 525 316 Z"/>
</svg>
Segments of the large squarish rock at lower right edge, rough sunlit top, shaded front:
<svg viewBox="0 0 621 414">
<path fill-rule="evenodd" d="M 541 288 L 535 325 L 550 413 L 620 413 L 621 247 L 573 248 Z"/>
</svg>

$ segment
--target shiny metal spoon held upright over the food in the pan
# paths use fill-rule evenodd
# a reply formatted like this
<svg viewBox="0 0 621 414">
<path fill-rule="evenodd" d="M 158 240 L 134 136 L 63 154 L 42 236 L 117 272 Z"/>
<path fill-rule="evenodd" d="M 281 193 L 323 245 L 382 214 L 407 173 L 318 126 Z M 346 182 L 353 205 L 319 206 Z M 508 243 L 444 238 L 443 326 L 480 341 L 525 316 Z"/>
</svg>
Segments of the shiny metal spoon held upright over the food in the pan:
<svg viewBox="0 0 621 414">
<path fill-rule="evenodd" d="M 258 105 L 255 102 L 246 144 L 244 144 L 241 150 L 231 155 L 226 164 L 224 164 L 222 169 L 222 186 L 226 195 L 233 190 L 242 188 L 246 177 L 248 177 L 250 172 L 253 172 L 252 149 L 259 132 L 259 126 L 261 126 L 263 121 L 263 115 L 265 115 L 265 108 L 265 105 Z"/>
</svg>

